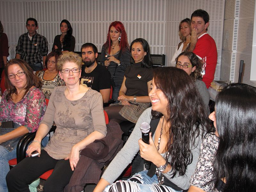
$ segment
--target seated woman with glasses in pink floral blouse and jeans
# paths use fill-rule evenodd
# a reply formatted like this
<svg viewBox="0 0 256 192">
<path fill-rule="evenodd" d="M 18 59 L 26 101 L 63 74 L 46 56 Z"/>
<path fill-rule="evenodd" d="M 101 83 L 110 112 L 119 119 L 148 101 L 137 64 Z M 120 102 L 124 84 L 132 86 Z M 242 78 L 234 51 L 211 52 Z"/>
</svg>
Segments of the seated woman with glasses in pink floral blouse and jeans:
<svg viewBox="0 0 256 192">
<path fill-rule="evenodd" d="M 8 161 L 16 158 L 20 137 L 37 130 L 46 103 L 40 79 L 23 60 L 12 59 L 7 63 L 5 86 L 0 103 L 0 191 L 8 192 L 5 180 L 10 170 Z"/>
</svg>

